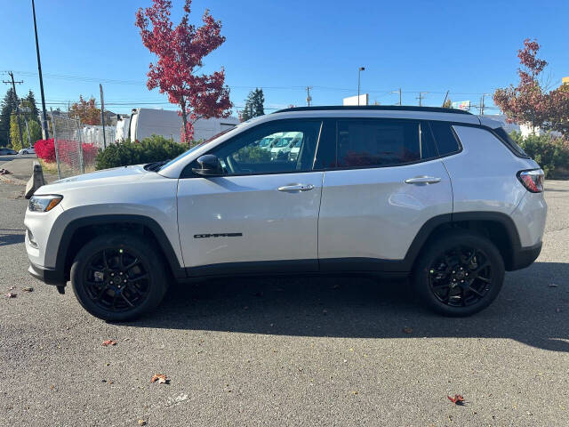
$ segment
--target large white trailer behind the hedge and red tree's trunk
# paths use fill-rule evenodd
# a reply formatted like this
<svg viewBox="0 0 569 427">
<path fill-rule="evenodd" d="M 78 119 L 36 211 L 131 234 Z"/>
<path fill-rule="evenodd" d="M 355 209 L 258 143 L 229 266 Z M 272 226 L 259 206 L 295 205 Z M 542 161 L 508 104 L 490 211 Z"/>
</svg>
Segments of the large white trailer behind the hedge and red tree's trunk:
<svg viewBox="0 0 569 427">
<path fill-rule="evenodd" d="M 207 140 L 213 135 L 231 129 L 239 124 L 236 117 L 200 118 L 194 124 L 194 140 Z M 181 117 L 177 111 L 166 109 L 132 109 L 128 133 L 116 135 L 117 141 L 130 138 L 131 141 L 142 140 L 148 136 L 162 135 L 164 138 L 180 142 Z M 118 125 L 116 126 L 119 127 Z M 124 125 L 122 126 L 124 129 Z"/>
</svg>

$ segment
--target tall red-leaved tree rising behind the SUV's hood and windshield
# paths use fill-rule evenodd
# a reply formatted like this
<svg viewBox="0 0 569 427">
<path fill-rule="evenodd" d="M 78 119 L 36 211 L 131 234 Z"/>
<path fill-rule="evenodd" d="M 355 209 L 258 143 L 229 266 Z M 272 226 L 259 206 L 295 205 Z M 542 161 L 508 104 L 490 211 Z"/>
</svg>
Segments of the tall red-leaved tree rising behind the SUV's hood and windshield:
<svg viewBox="0 0 569 427">
<path fill-rule="evenodd" d="M 189 23 L 191 0 L 184 4 L 180 24 L 172 27 L 169 0 L 152 0 L 152 6 L 136 12 L 135 25 L 140 28 L 142 43 L 156 54 L 156 63 L 150 63 L 147 86 L 167 93 L 168 100 L 180 107 L 182 119 L 181 141 L 189 143 L 198 118 L 228 117 L 232 104 L 225 85 L 225 71 L 210 75 L 195 75 L 204 57 L 225 41 L 220 35 L 221 22 L 209 11 L 202 17 L 204 25 L 196 28 Z"/>
</svg>

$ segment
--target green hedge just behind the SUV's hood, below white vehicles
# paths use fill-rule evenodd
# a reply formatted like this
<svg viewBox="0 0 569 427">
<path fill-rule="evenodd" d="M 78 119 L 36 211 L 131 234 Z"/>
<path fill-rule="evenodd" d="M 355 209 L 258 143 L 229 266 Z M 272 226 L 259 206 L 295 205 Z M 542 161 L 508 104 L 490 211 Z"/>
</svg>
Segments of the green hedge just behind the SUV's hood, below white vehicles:
<svg viewBox="0 0 569 427">
<path fill-rule="evenodd" d="M 108 169 L 127 165 L 161 162 L 180 156 L 188 149 L 187 145 L 166 140 L 163 136 L 152 135 L 142 141 L 116 142 L 100 150 L 95 158 L 96 169 Z"/>
</svg>

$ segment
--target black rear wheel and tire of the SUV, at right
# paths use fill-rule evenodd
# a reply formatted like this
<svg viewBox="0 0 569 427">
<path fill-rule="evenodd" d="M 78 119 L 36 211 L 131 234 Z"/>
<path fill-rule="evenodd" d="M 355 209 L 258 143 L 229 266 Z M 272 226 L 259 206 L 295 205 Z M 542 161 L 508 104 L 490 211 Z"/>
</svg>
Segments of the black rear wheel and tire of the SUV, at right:
<svg viewBox="0 0 569 427">
<path fill-rule="evenodd" d="M 498 296 L 504 282 L 501 254 L 487 238 L 451 230 L 421 250 L 413 270 L 416 294 L 444 316 L 470 316 Z"/>
</svg>

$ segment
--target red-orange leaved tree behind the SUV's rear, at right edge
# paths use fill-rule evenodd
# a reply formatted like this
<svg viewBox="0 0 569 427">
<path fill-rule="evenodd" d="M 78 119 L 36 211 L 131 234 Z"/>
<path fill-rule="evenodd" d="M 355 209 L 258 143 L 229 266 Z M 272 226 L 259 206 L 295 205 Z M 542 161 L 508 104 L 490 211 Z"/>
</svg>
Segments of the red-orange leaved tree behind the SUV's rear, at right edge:
<svg viewBox="0 0 569 427">
<path fill-rule="evenodd" d="M 548 65 L 537 58 L 540 44 L 524 40 L 524 48 L 517 51 L 521 67 L 517 68 L 519 83 L 496 89 L 494 103 L 506 114 L 509 121 L 530 124 L 545 130 L 569 134 L 569 88 L 562 85 L 550 91 L 542 87 L 539 77 Z"/>
</svg>

